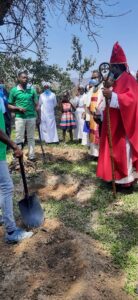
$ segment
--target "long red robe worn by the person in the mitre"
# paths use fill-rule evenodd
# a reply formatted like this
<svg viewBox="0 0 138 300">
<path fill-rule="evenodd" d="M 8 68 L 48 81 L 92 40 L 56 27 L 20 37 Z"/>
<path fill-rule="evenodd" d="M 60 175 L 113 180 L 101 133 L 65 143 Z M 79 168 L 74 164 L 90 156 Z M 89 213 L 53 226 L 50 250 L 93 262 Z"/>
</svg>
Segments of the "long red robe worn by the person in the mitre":
<svg viewBox="0 0 138 300">
<path fill-rule="evenodd" d="M 113 92 L 118 95 L 120 109 L 110 108 L 110 120 L 115 163 L 115 179 L 128 176 L 126 138 L 131 145 L 132 162 L 138 171 L 138 85 L 132 75 L 124 72 L 115 81 Z M 112 180 L 111 160 L 107 137 L 106 111 L 102 125 L 97 176 Z"/>
</svg>

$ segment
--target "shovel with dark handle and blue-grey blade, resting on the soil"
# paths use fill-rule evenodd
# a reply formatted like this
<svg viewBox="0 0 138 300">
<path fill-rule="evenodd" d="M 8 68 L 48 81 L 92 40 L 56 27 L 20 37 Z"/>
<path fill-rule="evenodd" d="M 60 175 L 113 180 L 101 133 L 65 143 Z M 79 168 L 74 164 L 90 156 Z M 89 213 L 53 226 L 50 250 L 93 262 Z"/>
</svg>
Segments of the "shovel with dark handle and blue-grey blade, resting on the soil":
<svg viewBox="0 0 138 300">
<path fill-rule="evenodd" d="M 25 193 L 24 199 L 19 201 L 19 209 L 23 223 L 27 227 L 39 227 L 44 222 L 44 212 L 37 195 L 29 195 L 22 158 L 19 158 L 19 164 Z"/>
</svg>

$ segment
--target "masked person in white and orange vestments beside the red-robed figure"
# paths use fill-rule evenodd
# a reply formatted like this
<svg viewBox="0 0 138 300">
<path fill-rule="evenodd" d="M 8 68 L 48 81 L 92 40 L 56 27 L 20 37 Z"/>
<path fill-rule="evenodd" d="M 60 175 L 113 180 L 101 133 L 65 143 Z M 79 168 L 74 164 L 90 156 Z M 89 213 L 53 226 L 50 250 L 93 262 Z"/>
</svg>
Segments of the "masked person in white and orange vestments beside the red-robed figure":
<svg viewBox="0 0 138 300">
<path fill-rule="evenodd" d="M 99 113 L 103 110 L 104 97 L 102 95 L 102 87 L 100 81 L 100 74 L 98 70 L 92 72 L 92 77 L 90 81 L 91 86 L 90 92 L 87 98 L 87 108 L 90 111 L 90 152 L 89 154 L 93 159 L 98 158 L 99 156 L 99 125 L 95 122 L 94 114 Z"/>
</svg>

